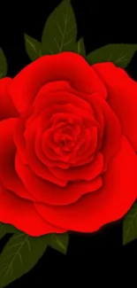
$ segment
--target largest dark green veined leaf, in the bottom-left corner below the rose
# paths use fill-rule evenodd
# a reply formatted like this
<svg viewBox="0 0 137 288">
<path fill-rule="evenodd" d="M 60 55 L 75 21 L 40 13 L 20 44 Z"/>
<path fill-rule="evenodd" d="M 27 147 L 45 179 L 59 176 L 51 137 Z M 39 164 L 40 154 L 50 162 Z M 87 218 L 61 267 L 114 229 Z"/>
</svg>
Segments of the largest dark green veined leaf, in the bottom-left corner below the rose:
<svg viewBox="0 0 137 288">
<path fill-rule="evenodd" d="M 0 254 L 0 288 L 33 269 L 48 246 L 48 237 L 13 235 Z"/>
</svg>

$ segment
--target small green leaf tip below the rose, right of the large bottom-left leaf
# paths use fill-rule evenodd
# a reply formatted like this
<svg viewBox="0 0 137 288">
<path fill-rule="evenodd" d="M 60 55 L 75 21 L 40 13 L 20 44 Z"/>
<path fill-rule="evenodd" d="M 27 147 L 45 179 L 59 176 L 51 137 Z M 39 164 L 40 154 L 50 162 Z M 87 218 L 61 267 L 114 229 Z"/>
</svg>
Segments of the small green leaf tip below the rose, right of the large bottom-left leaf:
<svg viewBox="0 0 137 288">
<path fill-rule="evenodd" d="M 69 235 L 67 233 L 49 235 L 49 246 L 61 253 L 66 254 L 68 243 Z"/>
</svg>

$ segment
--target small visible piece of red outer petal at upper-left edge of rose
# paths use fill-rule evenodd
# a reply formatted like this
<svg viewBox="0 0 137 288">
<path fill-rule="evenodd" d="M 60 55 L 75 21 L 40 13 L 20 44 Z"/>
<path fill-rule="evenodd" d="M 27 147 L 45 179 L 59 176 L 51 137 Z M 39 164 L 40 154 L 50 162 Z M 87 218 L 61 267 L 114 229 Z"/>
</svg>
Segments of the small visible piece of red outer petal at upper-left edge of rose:
<svg viewBox="0 0 137 288">
<path fill-rule="evenodd" d="M 11 97 L 8 93 L 10 84 L 11 78 L 9 77 L 5 77 L 0 80 L 0 121 L 6 118 L 19 116 L 19 113 L 13 105 Z"/>
</svg>

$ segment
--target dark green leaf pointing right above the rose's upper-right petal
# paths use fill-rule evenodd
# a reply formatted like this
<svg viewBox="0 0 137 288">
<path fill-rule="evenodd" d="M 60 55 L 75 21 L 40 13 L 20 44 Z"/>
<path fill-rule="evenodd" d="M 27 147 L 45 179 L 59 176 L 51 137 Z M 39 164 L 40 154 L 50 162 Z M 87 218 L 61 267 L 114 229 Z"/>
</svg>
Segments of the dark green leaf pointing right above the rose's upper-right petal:
<svg viewBox="0 0 137 288">
<path fill-rule="evenodd" d="M 137 51 L 137 44 L 109 44 L 89 53 L 87 61 L 90 65 L 109 61 L 125 68 L 135 51 Z"/>
</svg>

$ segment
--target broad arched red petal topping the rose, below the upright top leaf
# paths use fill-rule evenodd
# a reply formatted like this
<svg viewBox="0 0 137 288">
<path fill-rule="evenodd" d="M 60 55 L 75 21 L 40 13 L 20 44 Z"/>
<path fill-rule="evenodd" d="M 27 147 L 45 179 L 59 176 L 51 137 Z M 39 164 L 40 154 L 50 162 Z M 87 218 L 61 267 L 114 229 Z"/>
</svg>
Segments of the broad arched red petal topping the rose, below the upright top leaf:
<svg viewBox="0 0 137 288">
<path fill-rule="evenodd" d="M 76 90 L 107 95 L 103 82 L 84 58 L 77 53 L 62 52 L 43 56 L 26 66 L 11 82 L 11 98 L 22 112 L 32 104 L 43 85 L 64 80 Z"/>
</svg>

